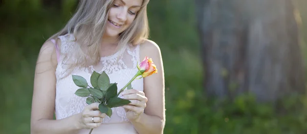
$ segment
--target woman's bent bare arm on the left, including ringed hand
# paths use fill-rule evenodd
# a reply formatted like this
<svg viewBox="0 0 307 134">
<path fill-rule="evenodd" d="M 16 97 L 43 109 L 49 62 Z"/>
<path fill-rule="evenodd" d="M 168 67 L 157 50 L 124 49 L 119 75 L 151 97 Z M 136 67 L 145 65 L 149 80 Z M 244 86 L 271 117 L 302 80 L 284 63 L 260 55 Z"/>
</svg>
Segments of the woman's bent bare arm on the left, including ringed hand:
<svg viewBox="0 0 307 134">
<path fill-rule="evenodd" d="M 57 42 L 60 48 L 60 41 Z M 99 103 L 85 106 L 82 113 L 53 120 L 55 108 L 55 69 L 57 57 L 51 41 L 42 45 L 36 63 L 31 111 L 31 133 L 76 133 L 80 129 L 100 126 L 105 114 L 98 109 Z M 95 123 L 92 122 L 94 117 Z"/>
</svg>

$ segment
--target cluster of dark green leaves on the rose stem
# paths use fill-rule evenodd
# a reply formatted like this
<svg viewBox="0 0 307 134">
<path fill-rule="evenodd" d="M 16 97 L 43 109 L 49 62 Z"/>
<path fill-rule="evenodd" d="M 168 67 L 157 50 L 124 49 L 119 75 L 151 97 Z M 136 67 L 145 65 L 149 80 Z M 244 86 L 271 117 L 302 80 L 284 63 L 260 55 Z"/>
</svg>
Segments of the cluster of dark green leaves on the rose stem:
<svg viewBox="0 0 307 134">
<path fill-rule="evenodd" d="M 86 79 L 79 75 L 72 75 L 74 83 L 80 87 L 75 94 L 79 97 L 87 97 L 86 103 L 98 102 L 99 110 L 108 117 L 112 116 L 112 109 L 126 105 L 131 101 L 118 97 L 117 83 L 110 83 L 108 75 L 103 71 L 101 74 L 94 71 L 91 75 L 90 87 Z"/>
</svg>

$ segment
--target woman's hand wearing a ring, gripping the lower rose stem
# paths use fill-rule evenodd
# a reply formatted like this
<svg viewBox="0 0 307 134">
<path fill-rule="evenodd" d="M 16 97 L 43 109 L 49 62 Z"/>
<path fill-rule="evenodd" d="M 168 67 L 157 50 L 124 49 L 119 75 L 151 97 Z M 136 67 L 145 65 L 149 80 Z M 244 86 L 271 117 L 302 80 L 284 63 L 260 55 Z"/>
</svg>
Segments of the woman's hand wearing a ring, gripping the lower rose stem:
<svg viewBox="0 0 307 134">
<path fill-rule="evenodd" d="M 101 125 L 105 114 L 99 111 L 99 103 L 92 103 L 86 105 L 84 110 L 80 113 L 79 126 L 82 129 L 92 129 Z"/>
</svg>

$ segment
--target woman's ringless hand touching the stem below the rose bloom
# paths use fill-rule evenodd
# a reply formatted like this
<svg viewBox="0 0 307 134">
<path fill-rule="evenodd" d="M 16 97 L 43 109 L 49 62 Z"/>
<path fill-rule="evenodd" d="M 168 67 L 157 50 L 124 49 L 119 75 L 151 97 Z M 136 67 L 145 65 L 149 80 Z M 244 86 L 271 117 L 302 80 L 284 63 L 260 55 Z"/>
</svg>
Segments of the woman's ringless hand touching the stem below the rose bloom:
<svg viewBox="0 0 307 134">
<path fill-rule="evenodd" d="M 123 105 L 123 108 L 126 109 L 126 116 L 130 121 L 137 121 L 146 108 L 147 97 L 144 92 L 129 89 L 123 91 L 120 98 L 131 101 L 131 103 Z"/>
</svg>

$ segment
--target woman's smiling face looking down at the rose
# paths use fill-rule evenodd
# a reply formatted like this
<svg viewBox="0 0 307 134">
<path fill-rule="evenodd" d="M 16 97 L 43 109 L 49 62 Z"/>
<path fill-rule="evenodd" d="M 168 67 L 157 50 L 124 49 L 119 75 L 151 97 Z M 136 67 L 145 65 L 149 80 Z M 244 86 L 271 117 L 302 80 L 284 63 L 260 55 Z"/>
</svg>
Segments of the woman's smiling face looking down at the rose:
<svg viewBox="0 0 307 134">
<path fill-rule="evenodd" d="M 108 13 L 105 34 L 114 37 L 125 31 L 136 18 L 142 2 L 143 0 L 115 0 Z"/>
</svg>

